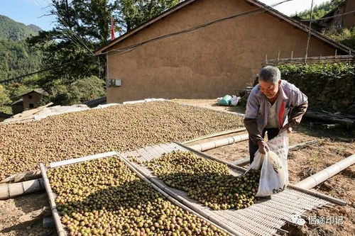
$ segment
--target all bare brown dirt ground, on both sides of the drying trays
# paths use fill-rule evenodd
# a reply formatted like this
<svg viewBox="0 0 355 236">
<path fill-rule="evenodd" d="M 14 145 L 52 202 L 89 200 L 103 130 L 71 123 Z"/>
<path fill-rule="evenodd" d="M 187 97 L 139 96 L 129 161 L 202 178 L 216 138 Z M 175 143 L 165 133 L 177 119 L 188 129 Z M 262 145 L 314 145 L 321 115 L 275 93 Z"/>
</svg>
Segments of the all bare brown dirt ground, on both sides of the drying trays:
<svg viewBox="0 0 355 236">
<path fill-rule="evenodd" d="M 212 108 L 217 111 L 244 113 L 244 106 L 224 107 L 217 106 L 214 99 L 199 100 L 174 100 L 179 103 L 189 103 L 195 106 Z M 242 134 L 246 132 L 241 132 Z M 224 135 L 217 137 L 229 137 L 237 135 Z M 214 140 L 210 138 L 200 142 Z M 329 165 L 338 162 L 345 157 L 354 154 L 355 132 L 354 130 L 317 130 L 310 128 L 310 121 L 303 120 L 302 125 L 297 126 L 290 134 L 290 145 L 310 140 L 318 140 L 317 145 L 306 147 L 302 150 L 290 151 L 289 174 L 290 182 L 295 184 L 305 177 L 315 174 Z M 190 143 L 189 145 L 198 142 Z M 248 156 L 248 142 L 239 142 L 226 147 L 219 147 L 206 152 L 214 157 L 232 162 Z M 246 166 L 248 167 L 248 164 Z M 324 181 L 315 188 L 316 191 L 334 198 L 346 201 L 346 206 L 334 206 L 330 209 L 313 210 L 307 212 L 306 225 L 285 225 L 288 235 L 355 235 L 355 167 L 354 165 L 340 172 L 336 176 Z M 32 193 L 27 196 L 0 201 L 0 235 L 57 235 L 55 229 L 44 229 L 42 226 L 45 216 L 44 207 L 48 206 L 48 198 L 44 191 Z M 334 217 L 342 219 L 342 224 L 310 224 L 308 217 Z"/>
</svg>

